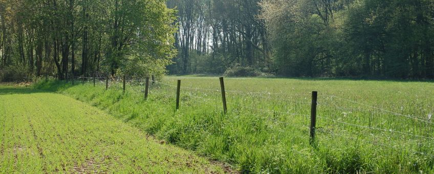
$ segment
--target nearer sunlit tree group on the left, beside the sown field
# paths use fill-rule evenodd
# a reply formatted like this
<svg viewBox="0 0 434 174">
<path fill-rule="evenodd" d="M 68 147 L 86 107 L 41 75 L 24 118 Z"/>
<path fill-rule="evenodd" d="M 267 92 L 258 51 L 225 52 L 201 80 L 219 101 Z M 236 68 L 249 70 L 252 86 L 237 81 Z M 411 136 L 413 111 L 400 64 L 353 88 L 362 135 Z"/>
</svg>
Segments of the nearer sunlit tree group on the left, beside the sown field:
<svg viewBox="0 0 434 174">
<path fill-rule="evenodd" d="M 163 0 L 1 0 L 0 73 L 161 74 L 174 20 Z"/>
</svg>

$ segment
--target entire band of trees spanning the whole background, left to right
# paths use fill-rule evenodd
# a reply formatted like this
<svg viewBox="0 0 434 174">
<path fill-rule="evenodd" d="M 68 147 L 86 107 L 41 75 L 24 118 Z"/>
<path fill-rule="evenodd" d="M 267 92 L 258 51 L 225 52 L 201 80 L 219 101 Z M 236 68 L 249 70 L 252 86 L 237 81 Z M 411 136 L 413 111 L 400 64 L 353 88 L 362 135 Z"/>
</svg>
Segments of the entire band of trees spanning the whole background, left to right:
<svg viewBox="0 0 434 174">
<path fill-rule="evenodd" d="M 0 77 L 434 78 L 432 0 L 0 0 Z"/>
</svg>

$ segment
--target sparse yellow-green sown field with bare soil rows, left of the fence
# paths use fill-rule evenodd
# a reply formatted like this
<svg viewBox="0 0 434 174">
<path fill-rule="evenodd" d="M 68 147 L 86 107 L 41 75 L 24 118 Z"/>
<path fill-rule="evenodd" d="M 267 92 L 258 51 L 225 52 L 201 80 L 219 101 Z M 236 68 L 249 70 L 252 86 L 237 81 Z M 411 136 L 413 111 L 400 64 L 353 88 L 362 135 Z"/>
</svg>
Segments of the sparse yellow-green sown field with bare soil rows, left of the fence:
<svg viewBox="0 0 434 174">
<path fill-rule="evenodd" d="M 70 97 L 0 86 L 0 173 L 223 173 Z"/>
</svg>

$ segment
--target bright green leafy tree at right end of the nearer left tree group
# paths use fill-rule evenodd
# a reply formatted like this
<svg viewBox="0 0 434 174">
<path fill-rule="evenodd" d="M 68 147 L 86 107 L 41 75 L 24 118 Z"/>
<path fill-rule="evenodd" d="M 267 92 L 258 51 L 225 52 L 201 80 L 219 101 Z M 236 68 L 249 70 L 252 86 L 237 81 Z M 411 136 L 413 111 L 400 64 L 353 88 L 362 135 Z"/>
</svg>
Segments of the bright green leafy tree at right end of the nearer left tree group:
<svg viewBox="0 0 434 174">
<path fill-rule="evenodd" d="M 116 1 L 117 2 L 117 1 Z M 175 10 L 161 1 L 123 1 L 111 4 L 113 21 L 107 28 L 113 40 L 107 48 L 111 71 L 120 68 L 126 74 L 162 74 L 175 55 L 171 33 Z M 115 70 L 113 70 L 115 68 Z"/>
</svg>

